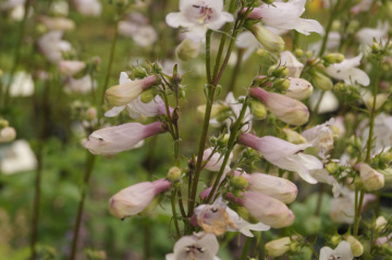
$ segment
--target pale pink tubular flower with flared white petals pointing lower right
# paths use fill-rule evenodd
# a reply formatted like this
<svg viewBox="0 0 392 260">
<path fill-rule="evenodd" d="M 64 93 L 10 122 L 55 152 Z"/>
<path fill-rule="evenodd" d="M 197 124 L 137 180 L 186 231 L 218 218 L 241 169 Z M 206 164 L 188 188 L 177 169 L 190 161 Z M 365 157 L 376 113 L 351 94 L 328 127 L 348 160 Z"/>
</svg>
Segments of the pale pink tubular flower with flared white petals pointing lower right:
<svg viewBox="0 0 392 260">
<path fill-rule="evenodd" d="M 259 138 L 250 134 L 242 134 L 240 143 L 261 152 L 267 161 L 278 168 L 296 172 L 310 184 L 317 183 L 309 171 L 322 169 L 322 163 L 316 157 L 303 153 L 311 144 L 294 145 L 272 136 Z"/>
</svg>

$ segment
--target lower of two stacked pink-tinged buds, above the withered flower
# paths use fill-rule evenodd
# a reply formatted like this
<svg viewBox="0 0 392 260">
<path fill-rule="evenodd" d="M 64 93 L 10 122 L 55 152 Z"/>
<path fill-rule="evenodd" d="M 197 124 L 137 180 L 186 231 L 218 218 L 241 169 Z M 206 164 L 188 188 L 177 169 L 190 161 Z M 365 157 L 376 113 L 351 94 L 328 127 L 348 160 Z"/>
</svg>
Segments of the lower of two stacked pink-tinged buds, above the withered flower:
<svg viewBox="0 0 392 260">
<path fill-rule="evenodd" d="M 256 191 L 243 193 L 242 198 L 226 196 L 245 207 L 252 216 L 274 228 L 289 226 L 294 222 L 293 212 L 282 201 Z"/>
</svg>

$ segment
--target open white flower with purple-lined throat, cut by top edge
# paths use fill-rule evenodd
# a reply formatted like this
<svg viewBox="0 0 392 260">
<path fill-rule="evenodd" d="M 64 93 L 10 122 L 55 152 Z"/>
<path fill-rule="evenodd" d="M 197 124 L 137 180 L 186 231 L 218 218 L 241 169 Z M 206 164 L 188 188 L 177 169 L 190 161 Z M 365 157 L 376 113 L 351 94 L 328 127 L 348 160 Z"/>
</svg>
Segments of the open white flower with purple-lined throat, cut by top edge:
<svg viewBox="0 0 392 260">
<path fill-rule="evenodd" d="M 208 29 L 219 29 L 234 17 L 223 12 L 223 0 L 181 0 L 180 12 L 169 13 L 169 26 L 187 28 L 186 38 L 203 41 Z"/>
</svg>

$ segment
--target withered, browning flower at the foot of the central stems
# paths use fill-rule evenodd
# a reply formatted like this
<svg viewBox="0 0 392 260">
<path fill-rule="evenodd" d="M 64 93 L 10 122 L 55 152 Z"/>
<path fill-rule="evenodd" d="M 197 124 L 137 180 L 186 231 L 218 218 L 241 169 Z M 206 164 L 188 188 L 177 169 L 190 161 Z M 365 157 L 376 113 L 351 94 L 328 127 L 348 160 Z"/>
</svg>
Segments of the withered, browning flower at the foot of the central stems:
<svg viewBox="0 0 392 260">
<path fill-rule="evenodd" d="M 212 205 L 200 205 L 195 209 L 197 223 L 207 233 L 212 233 L 216 236 L 223 235 L 231 226 L 234 230 L 238 227 L 226 212 L 226 203 L 223 202 L 222 197 L 219 197 Z"/>
</svg>

